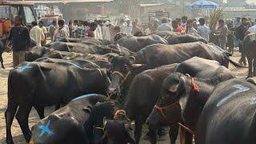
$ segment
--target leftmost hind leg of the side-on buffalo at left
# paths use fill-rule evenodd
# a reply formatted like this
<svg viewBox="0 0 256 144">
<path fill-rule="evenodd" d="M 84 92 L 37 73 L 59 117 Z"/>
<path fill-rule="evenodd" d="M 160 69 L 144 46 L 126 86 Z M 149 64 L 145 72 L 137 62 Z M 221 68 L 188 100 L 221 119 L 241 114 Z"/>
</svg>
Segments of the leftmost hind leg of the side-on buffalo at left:
<svg viewBox="0 0 256 144">
<path fill-rule="evenodd" d="M 6 109 L 5 117 L 6 117 L 6 143 L 7 144 L 13 144 L 13 138 L 11 136 L 11 130 L 10 127 L 14 121 L 14 115 L 17 111 L 18 105 L 14 102 L 10 102 L 8 100 L 8 106 Z"/>
</svg>

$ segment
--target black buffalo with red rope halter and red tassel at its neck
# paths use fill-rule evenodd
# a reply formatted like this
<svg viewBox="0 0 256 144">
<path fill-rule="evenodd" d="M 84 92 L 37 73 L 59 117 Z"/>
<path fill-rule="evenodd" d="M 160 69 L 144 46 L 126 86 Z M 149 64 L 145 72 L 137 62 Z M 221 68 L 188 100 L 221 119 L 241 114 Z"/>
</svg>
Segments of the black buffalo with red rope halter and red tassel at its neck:
<svg viewBox="0 0 256 144">
<path fill-rule="evenodd" d="M 206 67 L 195 77 L 174 73 L 165 78 L 161 95 L 148 118 L 150 129 L 182 123 L 195 131 L 202 108 L 214 87 L 235 78 L 224 66 Z M 186 138 L 186 142 L 192 143 L 191 138 Z"/>
</svg>

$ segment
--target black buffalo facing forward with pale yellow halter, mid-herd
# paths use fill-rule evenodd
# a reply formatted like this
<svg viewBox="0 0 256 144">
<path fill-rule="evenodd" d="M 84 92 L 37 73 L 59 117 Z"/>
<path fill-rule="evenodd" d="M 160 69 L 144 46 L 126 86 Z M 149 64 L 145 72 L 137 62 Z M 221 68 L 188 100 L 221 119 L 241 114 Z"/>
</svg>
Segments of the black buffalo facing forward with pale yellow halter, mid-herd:
<svg viewBox="0 0 256 144">
<path fill-rule="evenodd" d="M 118 94 L 121 87 L 130 86 L 131 80 L 142 70 L 152 69 L 157 66 L 172 63 L 184 62 L 193 57 L 206 58 L 218 61 L 222 66 L 229 66 L 229 62 L 234 66 L 238 63 L 228 58 L 229 53 L 221 50 L 218 46 L 207 45 L 203 42 L 191 42 L 178 45 L 156 44 L 146 46 L 134 57 L 114 57 L 110 58 L 112 64 L 110 94 Z M 134 64 L 136 63 L 136 64 Z M 138 69 L 138 67 L 142 67 Z M 243 67 L 243 66 L 240 66 Z M 137 69 L 136 69 L 137 68 Z"/>
</svg>

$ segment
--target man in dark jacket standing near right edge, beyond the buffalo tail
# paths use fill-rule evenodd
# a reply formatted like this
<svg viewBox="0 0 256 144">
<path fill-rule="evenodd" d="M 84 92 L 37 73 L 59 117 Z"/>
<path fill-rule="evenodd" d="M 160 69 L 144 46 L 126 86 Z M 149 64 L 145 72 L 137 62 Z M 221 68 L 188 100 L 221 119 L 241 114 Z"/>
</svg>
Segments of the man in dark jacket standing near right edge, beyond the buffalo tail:
<svg viewBox="0 0 256 144">
<path fill-rule="evenodd" d="M 247 65 L 247 62 L 246 62 L 246 56 L 245 56 L 244 51 L 242 49 L 242 40 L 243 40 L 243 38 L 245 38 L 247 30 L 248 30 L 248 28 L 247 28 L 247 18 L 242 18 L 241 26 L 238 26 L 236 28 L 236 38 L 239 42 L 239 52 L 242 54 L 242 56 L 239 60 L 239 63 L 244 64 L 244 65 Z"/>
</svg>

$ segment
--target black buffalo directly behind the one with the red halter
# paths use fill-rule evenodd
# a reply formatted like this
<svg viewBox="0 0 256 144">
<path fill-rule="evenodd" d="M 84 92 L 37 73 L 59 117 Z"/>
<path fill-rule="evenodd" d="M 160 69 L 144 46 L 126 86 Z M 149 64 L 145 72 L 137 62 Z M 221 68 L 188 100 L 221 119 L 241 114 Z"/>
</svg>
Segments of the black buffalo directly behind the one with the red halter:
<svg viewBox="0 0 256 144">
<path fill-rule="evenodd" d="M 154 70 L 146 70 L 138 74 L 130 84 L 125 105 L 128 118 L 135 121 L 134 134 L 136 142 L 139 141 L 141 136 L 142 124 L 146 122 L 146 118 L 150 115 L 154 104 L 161 95 L 162 82 L 169 74 L 176 71 L 183 74 L 190 74 L 193 77 L 200 75 L 200 77 L 205 76 L 205 78 L 207 78 L 210 76 L 208 74 L 209 71 L 217 70 L 219 66 L 219 63 L 216 61 L 203 58 L 191 58 L 180 64 L 161 66 Z M 170 139 L 171 142 L 175 142 L 177 137 L 175 134 L 178 133 L 178 126 L 174 126 L 172 130 Z M 150 131 L 150 134 L 152 133 L 153 131 Z M 152 135 L 154 135 L 154 133 Z M 152 142 L 154 143 L 155 139 L 152 139 Z"/>
</svg>

